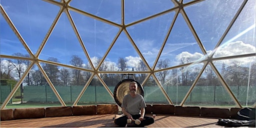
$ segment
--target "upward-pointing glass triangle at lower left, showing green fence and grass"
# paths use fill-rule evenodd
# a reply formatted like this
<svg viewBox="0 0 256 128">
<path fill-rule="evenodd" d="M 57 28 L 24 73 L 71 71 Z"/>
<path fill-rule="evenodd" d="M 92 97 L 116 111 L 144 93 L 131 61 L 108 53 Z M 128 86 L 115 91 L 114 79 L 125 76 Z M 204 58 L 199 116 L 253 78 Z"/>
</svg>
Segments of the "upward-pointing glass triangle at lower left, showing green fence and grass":
<svg viewBox="0 0 256 128">
<path fill-rule="evenodd" d="M 21 84 L 22 89 L 19 87 L 16 90 L 11 98 L 12 103 L 7 104 L 7 108 L 47 107 L 61 105 L 36 65 L 33 65 Z M 20 95 L 20 92 L 23 92 L 22 96 Z"/>
</svg>

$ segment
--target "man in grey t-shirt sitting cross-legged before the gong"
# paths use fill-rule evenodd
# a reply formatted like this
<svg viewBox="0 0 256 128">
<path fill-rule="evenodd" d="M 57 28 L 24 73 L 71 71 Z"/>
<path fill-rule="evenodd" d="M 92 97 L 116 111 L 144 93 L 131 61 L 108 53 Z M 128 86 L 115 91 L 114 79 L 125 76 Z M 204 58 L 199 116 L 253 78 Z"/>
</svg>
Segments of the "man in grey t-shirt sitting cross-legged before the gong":
<svg viewBox="0 0 256 128">
<path fill-rule="evenodd" d="M 122 127 L 127 124 L 127 119 L 139 119 L 140 124 L 135 124 L 137 127 L 154 123 L 152 117 L 144 116 L 146 104 L 143 96 L 136 93 L 137 83 L 135 81 L 130 82 L 129 90 L 130 92 L 123 97 L 121 104 L 124 116 L 116 118 L 114 123 Z"/>
</svg>

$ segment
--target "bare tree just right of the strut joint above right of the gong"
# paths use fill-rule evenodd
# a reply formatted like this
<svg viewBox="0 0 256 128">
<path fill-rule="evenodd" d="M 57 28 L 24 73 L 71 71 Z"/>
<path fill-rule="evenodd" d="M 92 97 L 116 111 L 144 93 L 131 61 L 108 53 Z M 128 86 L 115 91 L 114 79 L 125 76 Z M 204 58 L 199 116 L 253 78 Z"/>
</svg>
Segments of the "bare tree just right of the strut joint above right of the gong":
<svg viewBox="0 0 256 128">
<path fill-rule="evenodd" d="M 162 59 L 160 59 L 159 61 L 158 61 L 158 64 L 157 64 L 157 69 L 161 69 L 161 68 L 167 68 L 168 66 L 169 66 L 169 62 L 170 62 L 170 60 L 169 59 L 164 59 L 164 60 L 162 60 Z M 158 78 L 160 79 L 160 82 L 161 82 L 161 84 L 162 85 L 164 85 L 165 84 L 165 78 L 166 78 L 166 76 L 168 75 L 168 73 L 169 73 L 169 71 L 168 70 L 163 70 L 163 71 L 159 71 L 159 72 L 157 72 L 157 76 L 158 76 Z"/>
</svg>

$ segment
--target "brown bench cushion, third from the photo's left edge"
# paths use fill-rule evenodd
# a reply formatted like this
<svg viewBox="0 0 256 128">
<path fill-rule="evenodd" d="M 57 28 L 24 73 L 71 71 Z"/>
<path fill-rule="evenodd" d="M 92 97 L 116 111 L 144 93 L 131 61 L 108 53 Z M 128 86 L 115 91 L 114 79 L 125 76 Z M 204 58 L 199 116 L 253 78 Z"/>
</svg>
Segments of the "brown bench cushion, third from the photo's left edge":
<svg viewBox="0 0 256 128">
<path fill-rule="evenodd" d="M 45 117 L 70 116 L 70 115 L 72 115 L 71 106 L 56 106 L 56 107 L 45 108 Z"/>
</svg>

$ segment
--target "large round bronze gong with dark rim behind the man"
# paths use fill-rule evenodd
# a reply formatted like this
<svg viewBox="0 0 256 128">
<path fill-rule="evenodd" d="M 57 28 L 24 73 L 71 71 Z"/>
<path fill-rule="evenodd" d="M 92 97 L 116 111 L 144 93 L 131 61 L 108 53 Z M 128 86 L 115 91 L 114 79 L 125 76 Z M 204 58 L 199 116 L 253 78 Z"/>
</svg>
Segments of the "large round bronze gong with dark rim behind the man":
<svg viewBox="0 0 256 128">
<path fill-rule="evenodd" d="M 130 92 L 129 90 L 129 84 L 130 82 L 135 81 L 134 79 L 123 79 L 120 82 L 117 83 L 117 85 L 114 87 L 114 100 L 117 103 L 117 105 L 121 106 L 122 104 L 122 99 L 124 97 L 124 95 L 128 94 Z M 140 85 L 139 82 L 135 81 L 137 83 L 137 91 L 136 93 L 144 96 L 144 90 L 142 88 L 142 86 Z"/>
</svg>

